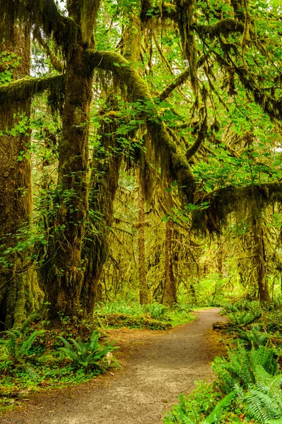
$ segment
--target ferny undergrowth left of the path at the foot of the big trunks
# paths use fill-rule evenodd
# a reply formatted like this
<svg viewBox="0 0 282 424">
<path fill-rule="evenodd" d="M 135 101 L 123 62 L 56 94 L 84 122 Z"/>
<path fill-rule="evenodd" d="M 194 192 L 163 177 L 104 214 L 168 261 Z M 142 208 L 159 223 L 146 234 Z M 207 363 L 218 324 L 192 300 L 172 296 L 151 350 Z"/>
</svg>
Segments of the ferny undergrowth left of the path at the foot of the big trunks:
<svg viewBox="0 0 282 424">
<path fill-rule="evenodd" d="M 88 382 L 119 366 L 112 355 L 117 346 L 101 343 L 93 324 L 70 326 L 67 317 L 60 330 L 49 330 L 47 324 L 32 322 L 2 333 L 0 411 L 17 404 L 30 391 Z"/>
</svg>

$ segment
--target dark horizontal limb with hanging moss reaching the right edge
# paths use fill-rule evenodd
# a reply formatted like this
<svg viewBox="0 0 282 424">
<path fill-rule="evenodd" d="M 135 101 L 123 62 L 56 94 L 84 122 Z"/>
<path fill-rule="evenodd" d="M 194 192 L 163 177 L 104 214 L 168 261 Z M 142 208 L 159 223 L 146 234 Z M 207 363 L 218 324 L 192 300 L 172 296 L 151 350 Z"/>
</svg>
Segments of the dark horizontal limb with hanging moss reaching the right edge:
<svg viewBox="0 0 282 424">
<path fill-rule="evenodd" d="M 268 205 L 282 203 L 282 183 L 250 184 L 246 187 L 228 186 L 205 194 L 199 204 L 208 202 L 207 209 L 193 213 L 192 228 L 201 232 L 221 232 L 230 213 L 246 217 L 254 211 L 262 211 Z"/>
</svg>

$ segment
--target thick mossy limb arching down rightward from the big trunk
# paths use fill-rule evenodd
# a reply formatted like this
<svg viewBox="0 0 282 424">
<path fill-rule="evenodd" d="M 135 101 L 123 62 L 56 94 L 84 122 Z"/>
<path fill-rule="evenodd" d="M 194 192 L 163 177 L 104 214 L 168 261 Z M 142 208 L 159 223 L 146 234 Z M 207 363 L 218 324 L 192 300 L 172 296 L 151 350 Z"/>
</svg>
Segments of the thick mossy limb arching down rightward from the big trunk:
<svg viewBox="0 0 282 424">
<path fill-rule="evenodd" d="M 130 93 L 134 101 L 143 102 L 144 113 L 148 131 L 151 134 L 156 153 L 160 157 L 163 170 L 177 180 L 182 187 L 183 194 L 187 201 L 194 199 L 195 182 L 194 176 L 189 169 L 189 164 L 184 155 L 177 152 L 175 141 L 172 140 L 162 119 L 158 116 L 158 108 L 153 103 L 150 91 L 145 81 L 139 73 L 124 59 L 121 54 L 115 52 L 95 52 L 92 49 L 86 50 L 89 66 L 94 68 L 112 71 L 119 81 L 121 81 Z"/>
</svg>

